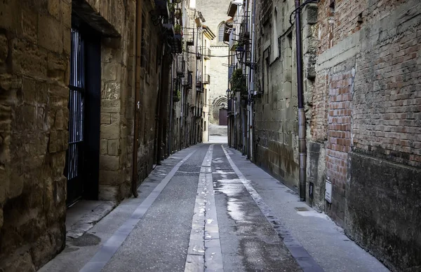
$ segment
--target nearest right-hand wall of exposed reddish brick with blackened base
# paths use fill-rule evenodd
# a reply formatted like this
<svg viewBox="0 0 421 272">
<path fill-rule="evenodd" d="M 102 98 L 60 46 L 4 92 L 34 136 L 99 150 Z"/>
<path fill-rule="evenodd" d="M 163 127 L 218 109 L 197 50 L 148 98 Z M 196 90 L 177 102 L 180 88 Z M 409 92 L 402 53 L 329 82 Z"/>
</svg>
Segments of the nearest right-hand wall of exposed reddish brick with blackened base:
<svg viewBox="0 0 421 272">
<path fill-rule="evenodd" d="M 319 3 L 310 134 L 333 184 L 326 211 L 392 271 L 417 271 L 421 6 L 332 3 Z"/>
</svg>

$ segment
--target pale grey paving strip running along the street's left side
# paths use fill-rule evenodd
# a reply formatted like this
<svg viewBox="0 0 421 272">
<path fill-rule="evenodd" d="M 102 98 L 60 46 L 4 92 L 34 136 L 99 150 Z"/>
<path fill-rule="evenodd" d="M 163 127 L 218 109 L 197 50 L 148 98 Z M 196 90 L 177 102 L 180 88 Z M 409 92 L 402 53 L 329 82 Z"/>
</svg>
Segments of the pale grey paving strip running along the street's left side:
<svg viewBox="0 0 421 272">
<path fill-rule="evenodd" d="M 145 215 L 148 208 L 152 206 L 152 203 L 161 194 L 162 190 L 166 187 L 168 182 L 173 178 L 174 174 L 178 171 L 180 166 L 184 164 L 189 157 L 191 157 L 196 150 L 190 152 L 184 159 L 182 159 L 174 168 L 166 175 L 165 178 L 155 187 L 155 189 L 142 201 L 142 203 L 136 208 L 131 217 L 117 229 L 114 234 L 102 245 L 100 250 L 93 256 L 93 258 L 83 266 L 80 272 L 100 272 L 102 268 L 109 262 L 115 252 L 120 248 L 123 241 L 126 240 L 128 235 L 131 233 L 136 224 Z"/>
</svg>

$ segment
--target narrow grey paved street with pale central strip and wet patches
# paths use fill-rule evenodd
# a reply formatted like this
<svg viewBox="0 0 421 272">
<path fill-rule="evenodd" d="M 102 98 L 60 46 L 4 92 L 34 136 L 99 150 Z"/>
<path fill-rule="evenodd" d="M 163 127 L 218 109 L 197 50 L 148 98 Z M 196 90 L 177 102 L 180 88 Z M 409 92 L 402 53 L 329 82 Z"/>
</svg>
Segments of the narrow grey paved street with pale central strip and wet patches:
<svg viewBox="0 0 421 272">
<path fill-rule="evenodd" d="M 39 271 L 388 271 L 226 144 L 175 153 L 138 193 Z"/>
</svg>

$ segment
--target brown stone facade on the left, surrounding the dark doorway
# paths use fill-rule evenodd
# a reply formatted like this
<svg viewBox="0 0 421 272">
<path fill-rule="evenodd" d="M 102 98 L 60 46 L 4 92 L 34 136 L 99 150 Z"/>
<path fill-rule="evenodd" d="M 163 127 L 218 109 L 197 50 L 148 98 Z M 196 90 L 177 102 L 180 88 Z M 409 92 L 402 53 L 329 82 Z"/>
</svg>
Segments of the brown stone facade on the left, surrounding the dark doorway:
<svg viewBox="0 0 421 272">
<path fill-rule="evenodd" d="M 120 201 L 171 152 L 181 47 L 166 45 L 150 0 L 7 0 L 0 13 L 0 271 L 35 271 L 65 247 L 72 27 L 90 31 L 83 50 L 98 56 L 85 64 L 98 84 L 86 82 L 83 102 L 98 138 L 87 137 L 89 174 L 75 199 Z"/>
</svg>

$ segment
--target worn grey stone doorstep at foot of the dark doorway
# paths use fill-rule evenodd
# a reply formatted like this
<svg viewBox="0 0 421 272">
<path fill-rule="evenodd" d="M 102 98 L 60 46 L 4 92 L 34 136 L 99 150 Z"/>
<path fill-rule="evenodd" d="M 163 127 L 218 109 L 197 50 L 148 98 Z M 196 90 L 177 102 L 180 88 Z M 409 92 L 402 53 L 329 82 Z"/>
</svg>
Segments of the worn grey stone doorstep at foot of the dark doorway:
<svg viewBox="0 0 421 272">
<path fill-rule="evenodd" d="M 66 236 L 78 238 L 116 208 L 116 201 L 81 200 L 67 209 Z"/>
</svg>

